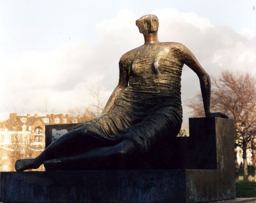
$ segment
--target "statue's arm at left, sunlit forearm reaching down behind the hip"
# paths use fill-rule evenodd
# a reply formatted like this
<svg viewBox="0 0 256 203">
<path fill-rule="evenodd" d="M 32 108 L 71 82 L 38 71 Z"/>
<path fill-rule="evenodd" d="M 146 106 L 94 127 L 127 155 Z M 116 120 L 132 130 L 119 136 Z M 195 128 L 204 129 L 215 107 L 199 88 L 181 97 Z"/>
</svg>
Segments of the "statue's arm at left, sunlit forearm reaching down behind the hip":
<svg viewBox="0 0 256 203">
<path fill-rule="evenodd" d="M 106 103 L 106 106 L 104 107 L 104 109 L 100 115 L 109 113 L 114 109 L 115 103 L 116 103 L 117 99 L 119 98 L 120 93 L 123 91 L 124 88 L 126 88 L 128 86 L 128 81 L 129 81 L 128 73 L 127 73 L 125 67 L 122 65 L 122 62 L 120 60 L 118 85 L 112 92 L 108 102 Z"/>
</svg>

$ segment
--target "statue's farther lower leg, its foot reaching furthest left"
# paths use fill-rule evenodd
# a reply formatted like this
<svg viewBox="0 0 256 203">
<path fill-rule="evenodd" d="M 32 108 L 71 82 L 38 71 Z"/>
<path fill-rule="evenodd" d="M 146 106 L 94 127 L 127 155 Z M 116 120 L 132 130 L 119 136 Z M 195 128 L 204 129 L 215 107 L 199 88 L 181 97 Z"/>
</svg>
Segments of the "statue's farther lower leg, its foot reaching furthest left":
<svg viewBox="0 0 256 203">
<path fill-rule="evenodd" d="M 102 140 L 86 134 L 86 127 L 74 129 L 51 143 L 38 157 L 34 159 L 19 159 L 15 163 L 16 171 L 36 169 L 49 159 L 81 154 L 93 148 L 104 146 Z"/>
</svg>

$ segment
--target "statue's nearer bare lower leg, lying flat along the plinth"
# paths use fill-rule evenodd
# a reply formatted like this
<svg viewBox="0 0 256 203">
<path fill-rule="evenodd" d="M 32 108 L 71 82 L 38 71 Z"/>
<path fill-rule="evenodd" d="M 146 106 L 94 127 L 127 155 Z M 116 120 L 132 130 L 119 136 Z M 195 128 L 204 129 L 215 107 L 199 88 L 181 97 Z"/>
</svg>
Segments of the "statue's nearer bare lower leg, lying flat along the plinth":
<svg viewBox="0 0 256 203">
<path fill-rule="evenodd" d="M 94 169 L 118 162 L 119 169 L 125 169 L 125 159 L 136 153 L 131 140 L 123 140 L 111 147 L 100 147 L 86 153 L 50 159 L 44 162 L 46 170 Z"/>
</svg>

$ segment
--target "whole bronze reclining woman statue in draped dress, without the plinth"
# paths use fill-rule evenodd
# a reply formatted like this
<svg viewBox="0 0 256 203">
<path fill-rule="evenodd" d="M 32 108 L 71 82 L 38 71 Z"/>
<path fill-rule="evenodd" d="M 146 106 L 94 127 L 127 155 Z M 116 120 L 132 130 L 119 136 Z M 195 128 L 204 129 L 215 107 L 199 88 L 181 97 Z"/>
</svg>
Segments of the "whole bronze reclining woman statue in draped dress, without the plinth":
<svg viewBox="0 0 256 203">
<path fill-rule="evenodd" d="M 175 137 L 182 124 L 180 97 L 182 67 L 199 77 L 206 117 L 211 113 L 210 78 L 182 44 L 159 42 L 158 18 L 136 20 L 145 44 L 125 53 L 119 62 L 119 82 L 100 116 L 75 127 L 34 159 L 16 161 L 15 169 L 124 169 L 123 163 L 147 153 L 166 138 Z"/>
</svg>

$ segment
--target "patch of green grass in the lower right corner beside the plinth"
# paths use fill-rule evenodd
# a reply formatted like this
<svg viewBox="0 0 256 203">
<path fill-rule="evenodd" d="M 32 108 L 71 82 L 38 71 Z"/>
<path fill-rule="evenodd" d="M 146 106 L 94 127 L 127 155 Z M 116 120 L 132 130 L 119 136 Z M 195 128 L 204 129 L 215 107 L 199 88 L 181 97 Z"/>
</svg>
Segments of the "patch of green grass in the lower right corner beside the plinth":
<svg viewBox="0 0 256 203">
<path fill-rule="evenodd" d="M 236 182 L 236 197 L 256 197 L 256 182 Z"/>
</svg>

